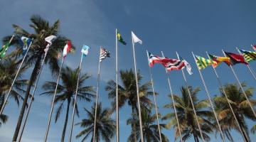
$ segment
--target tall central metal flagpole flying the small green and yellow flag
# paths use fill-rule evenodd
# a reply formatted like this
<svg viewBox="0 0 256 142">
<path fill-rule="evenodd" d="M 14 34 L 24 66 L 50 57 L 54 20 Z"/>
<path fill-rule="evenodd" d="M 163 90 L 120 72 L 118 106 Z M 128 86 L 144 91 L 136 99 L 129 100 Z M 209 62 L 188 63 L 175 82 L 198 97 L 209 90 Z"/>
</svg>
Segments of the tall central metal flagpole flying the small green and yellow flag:
<svg viewBox="0 0 256 142">
<path fill-rule="evenodd" d="M 117 28 L 116 28 L 116 134 L 117 134 L 117 142 L 119 142 L 119 106 L 118 106 L 118 47 L 117 47 Z"/>
</svg>

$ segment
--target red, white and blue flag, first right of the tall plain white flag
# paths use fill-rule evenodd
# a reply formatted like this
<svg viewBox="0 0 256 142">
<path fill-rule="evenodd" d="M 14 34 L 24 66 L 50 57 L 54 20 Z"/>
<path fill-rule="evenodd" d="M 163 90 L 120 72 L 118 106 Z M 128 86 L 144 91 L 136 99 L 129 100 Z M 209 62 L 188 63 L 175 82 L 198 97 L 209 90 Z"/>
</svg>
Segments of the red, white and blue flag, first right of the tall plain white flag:
<svg viewBox="0 0 256 142">
<path fill-rule="evenodd" d="M 148 55 L 149 55 L 149 67 L 153 67 L 155 63 L 160 63 L 161 65 L 164 65 L 164 67 L 167 67 L 168 62 L 171 62 L 169 58 L 160 58 L 151 53 L 148 53 Z"/>
</svg>

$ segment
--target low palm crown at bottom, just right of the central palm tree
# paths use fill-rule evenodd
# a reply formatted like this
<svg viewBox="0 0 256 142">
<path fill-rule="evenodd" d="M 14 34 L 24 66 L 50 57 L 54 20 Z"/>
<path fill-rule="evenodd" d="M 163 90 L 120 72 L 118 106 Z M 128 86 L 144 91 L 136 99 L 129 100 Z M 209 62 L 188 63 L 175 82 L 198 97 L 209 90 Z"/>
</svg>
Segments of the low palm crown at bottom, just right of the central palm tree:
<svg viewBox="0 0 256 142">
<path fill-rule="evenodd" d="M 156 114 L 151 115 L 151 110 L 142 109 L 142 125 L 143 125 L 143 135 L 144 140 L 146 142 L 160 141 L 160 136 L 158 132 L 158 126 L 155 124 L 156 122 Z M 140 141 L 140 132 L 139 132 L 139 117 L 132 116 L 132 118 L 127 120 L 127 124 L 134 124 L 136 126 L 136 131 L 132 132 L 128 138 L 129 142 L 134 141 L 134 136 L 136 136 L 137 140 Z M 159 124 L 161 128 L 166 129 L 166 124 Z M 161 138 L 163 142 L 168 142 L 168 138 L 161 133 Z"/>
</svg>

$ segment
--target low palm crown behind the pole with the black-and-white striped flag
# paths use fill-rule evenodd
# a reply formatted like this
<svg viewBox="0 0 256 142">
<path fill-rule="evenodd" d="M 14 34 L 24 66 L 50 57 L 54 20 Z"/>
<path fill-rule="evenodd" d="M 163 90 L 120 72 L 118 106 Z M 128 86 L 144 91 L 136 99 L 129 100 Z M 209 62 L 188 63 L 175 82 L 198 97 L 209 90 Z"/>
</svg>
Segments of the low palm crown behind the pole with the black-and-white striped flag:
<svg viewBox="0 0 256 142">
<path fill-rule="evenodd" d="M 84 108 L 85 109 L 85 108 Z M 84 128 L 76 138 L 82 138 L 82 141 L 85 141 L 90 135 L 93 135 L 94 131 L 94 121 L 95 121 L 95 103 L 92 107 L 92 110 L 89 111 L 85 109 L 87 113 L 87 118 L 82 119 L 76 125 L 80 125 L 80 127 Z M 114 137 L 115 131 L 115 121 L 110 117 L 110 109 L 102 109 L 102 104 L 97 104 L 97 119 L 96 119 L 96 131 L 95 131 L 95 141 L 99 142 L 102 138 L 106 142 L 110 142 Z M 91 142 L 93 141 L 93 136 L 91 138 Z"/>
</svg>

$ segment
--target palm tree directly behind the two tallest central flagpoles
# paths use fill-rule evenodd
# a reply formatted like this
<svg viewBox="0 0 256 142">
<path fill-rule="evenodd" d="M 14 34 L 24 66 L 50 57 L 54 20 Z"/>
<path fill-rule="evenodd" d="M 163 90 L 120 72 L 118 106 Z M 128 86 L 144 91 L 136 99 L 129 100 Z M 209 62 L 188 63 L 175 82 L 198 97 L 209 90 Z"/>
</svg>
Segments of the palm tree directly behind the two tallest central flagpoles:
<svg viewBox="0 0 256 142">
<path fill-rule="evenodd" d="M 122 108 L 124 104 L 128 104 L 132 108 L 132 116 L 138 115 L 138 107 L 137 107 L 137 87 L 136 87 L 136 80 L 135 74 L 131 70 L 121 70 L 120 77 L 122 80 L 122 84 L 118 84 L 118 105 L 119 108 Z M 150 95 L 153 95 L 151 92 L 151 82 L 146 82 L 145 84 L 141 84 L 142 82 L 142 75 L 137 73 L 138 77 L 138 85 L 139 85 L 139 97 L 140 103 L 142 104 L 142 108 L 149 108 L 151 107 L 151 100 L 148 98 Z M 112 109 L 113 111 L 116 108 L 116 87 L 117 83 L 114 80 L 110 80 L 107 82 L 107 87 L 105 88 L 108 91 L 108 96 L 110 99 L 114 99 L 112 102 Z M 135 126 L 132 124 L 132 129 L 135 129 Z M 134 130 L 135 131 L 135 130 Z M 136 137 L 134 137 L 134 141 Z"/>
</svg>

